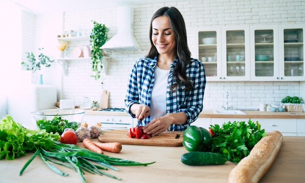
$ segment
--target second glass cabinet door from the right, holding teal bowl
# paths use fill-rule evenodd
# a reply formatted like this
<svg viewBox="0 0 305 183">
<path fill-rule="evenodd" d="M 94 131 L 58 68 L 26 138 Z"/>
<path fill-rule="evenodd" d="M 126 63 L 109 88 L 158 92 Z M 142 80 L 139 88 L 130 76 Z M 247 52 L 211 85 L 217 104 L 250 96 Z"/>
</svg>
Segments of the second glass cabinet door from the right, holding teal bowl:
<svg viewBox="0 0 305 183">
<path fill-rule="evenodd" d="M 251 30 L 251 81 L 276 81 L 279 78 L 278 32 L 273 27 Z"/>
</svg>

